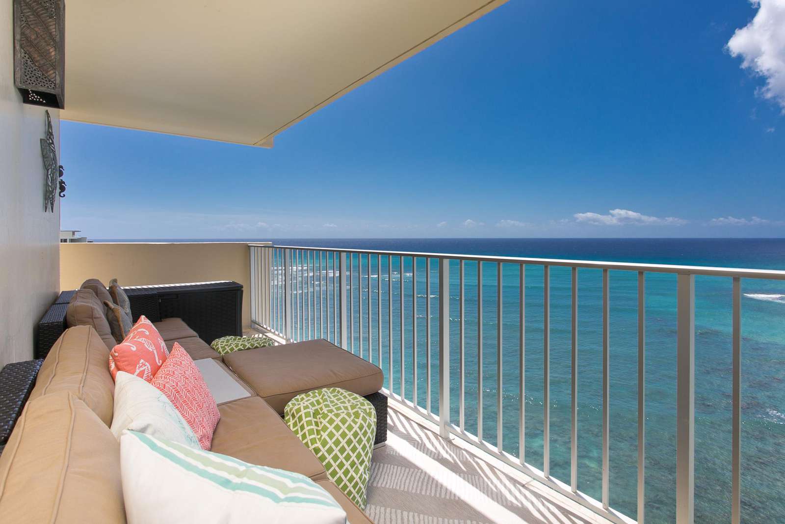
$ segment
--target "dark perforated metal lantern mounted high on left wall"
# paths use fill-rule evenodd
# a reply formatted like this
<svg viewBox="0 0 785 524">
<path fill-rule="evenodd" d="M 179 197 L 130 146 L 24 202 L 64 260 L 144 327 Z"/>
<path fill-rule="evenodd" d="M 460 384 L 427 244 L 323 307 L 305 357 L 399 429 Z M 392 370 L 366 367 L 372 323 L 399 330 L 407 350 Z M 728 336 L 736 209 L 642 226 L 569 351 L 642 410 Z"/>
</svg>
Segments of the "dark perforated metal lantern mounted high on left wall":
<svg viewBox="0 0 785 524">
<path fill-rule="evenodd" d="M 25 104 L 64 108 L 64 0 L 13 0 L 13 80 Z"/>
</svg>

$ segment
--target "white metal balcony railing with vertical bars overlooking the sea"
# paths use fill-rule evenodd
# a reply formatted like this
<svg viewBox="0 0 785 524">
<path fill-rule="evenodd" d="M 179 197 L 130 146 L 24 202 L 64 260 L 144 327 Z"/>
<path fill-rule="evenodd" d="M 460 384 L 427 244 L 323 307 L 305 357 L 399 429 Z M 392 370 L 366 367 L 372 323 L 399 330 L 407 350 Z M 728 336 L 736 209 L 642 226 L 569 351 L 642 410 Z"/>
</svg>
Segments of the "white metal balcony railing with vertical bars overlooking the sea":
<svg viewBox="0 0 785 524">
<path fill-rule="evenodd" d="M 637 346 L 637 522 L 644 522 L 646 279 L 648 274 L 657 278 L 667 274 L 675 276 L 676 471 L 673 489 L 678 524 L 687 524 L 694 519 L 695 278 L 730 279 L 732 427 L 728 432 L 732 435 L 732 451 L 728 460 L 732 476 L 731 520 L 734 524 L 740 522 L 741 279 L 785 280 L 785 271 L 254 244 L 250 246 L 250 268 L 254 325 L 288 341 L 326 338 L 379 365 L 385 370 L 385 393 L 391 401 L 437 423 L 444 438 L 462 438 L 614 522 L 636 521 L 610 505 L 611 274 L 621 272 L 619 282 L 637 298 L 636 305 L 628 305 L 637 308 L 637 333 L 633 338 L 632 330 L 627 330 L 626 337 L 630 340 L 623 341 L 627 346 Z M 527 283 L 531 268 L 536 268 L 537 277 L 541 279 L 533 285 Z M 600 310 L 596 321 L 597 332 L 601 331 L 601 366 L 598 366 L 598 376 L 591 377 L 601 382 L 599 500 L 579 490 L 579 271 L 584 273 L 590 269 L 601 272 L 601 280 L 594 290 Z M 487 291 L 483 291 L 483 285 L 488 286 L 484 271 L 495 273 L 495 297 L 491 300 Z M 569 478 L 564 475 L 564 479 L 556 478 L 552 472 L 550 453 L 553 442 L 551 409 L 554 406 L 550 399 L 551 278 L 556 271 L 560 272 L 560 283 L 563 283 L 559 286 L 558 298 L 569 304 L 569 313 L 562 313 L 565 322 L 569 318 L 570 325 Z M 386 280 L 386 284 L 382 280 Z M 509 281 L 513 281 L 513 286 Z M 593 281 L 590 279 L 588 284 Z M 467 282 L 474 291 L 469 301 L 466 300 Z M 542 352 L 537 355 L 537 361 L 542 365 L 539 376 L 542 390 L 538 384 L 542 414 L 537 415 L 538 422 L 542 420 L 542 449 L 533 451 L 537 460 L 542 459 L 542 469 L 526 460 L 527 453 L 531 453 L 526 449 L 525 431 L 527 409 L 531 410 L 525 401 L 526 345 L 531 338 L 526 332 L 531 325 L 531 319 L 527 321 L 527 291 L 533 287 L 541 293 L 535 317 L 542 323 L 537 330 L 541 330 L 542 339 L 536 346 L 537 351 Z M 510 309 L 515 313 L 513 317 L 505 315 Z M 484 314 L 489 311 L 495 321 L 495 336 L 484 331 L 484 324 L 488 324 Z M 473 330 L 467 331 L 469 327 Z M 495 369 L 492 366 L 489 369 L 487 365 L 487 346 L 495 350 Z M 505 364 L 509 364 L 510 354 L 517 354 L 517 373 L 513 373 L 517 387 L 511 394 L 509 388 L 505 391 L 503 386 L 507 372 Z M 474 371 L 469 365 L 470 358 L 476 366 Z M 475 383 L 469 383 L 467 376 L 473 376 Z M 495 391 L 484 384 L 488 377 L 494 379 Z M 467 402 L 467 388 L 475 392 L 473 400 L 476 402 Z M 487 398 L 488 391 L 494 394 L 494 399 Z M 451 394 L 457 394 L 457 403 L 451 402 Z M 509 415 L 510 403 L 515 405 L 517 412 L 512 420 L 505 416 Z M 503 409 L 503 405 L 507 409 Z M 476 426 L 469 423 L 469 415 L 476 420 Z M 489 416 L 490 425 L 487 423 Z M 510 424 L 517 429 L 513 434 L 509 431 Z M 514 446 L 516 440 L 517 446 Z M 516 449 L 511 449 L 510 442 Z M 566 467 L 560 469 L 566 473 Z"/>
</svg>

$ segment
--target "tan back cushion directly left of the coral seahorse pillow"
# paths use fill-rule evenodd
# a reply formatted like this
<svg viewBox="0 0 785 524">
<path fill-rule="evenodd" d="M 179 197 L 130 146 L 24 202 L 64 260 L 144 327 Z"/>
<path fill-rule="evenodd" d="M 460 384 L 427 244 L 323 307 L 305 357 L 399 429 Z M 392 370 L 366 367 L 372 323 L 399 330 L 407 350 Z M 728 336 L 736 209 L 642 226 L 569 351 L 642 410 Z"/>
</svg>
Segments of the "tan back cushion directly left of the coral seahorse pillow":
<svg viewBox="0 0 785 524">
<path fill-rule="evenodd" d="M 74 394 L 111 426 L 115 381 L 109 372 L 109 352 L 93 328 L 77 326 L 60 335 L 46 355 L 30 398 L 58 391 Z"/>
</svg>

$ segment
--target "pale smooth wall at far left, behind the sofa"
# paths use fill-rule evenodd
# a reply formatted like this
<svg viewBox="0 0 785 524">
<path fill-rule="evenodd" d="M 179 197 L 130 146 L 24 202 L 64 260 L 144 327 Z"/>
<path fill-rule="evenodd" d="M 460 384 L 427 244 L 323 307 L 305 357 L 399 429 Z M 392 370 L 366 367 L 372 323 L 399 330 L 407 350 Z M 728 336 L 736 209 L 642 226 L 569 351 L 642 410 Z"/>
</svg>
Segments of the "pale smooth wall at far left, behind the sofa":
<svg viewBox="0 0 785 524">
<path fill-rule="evenodd" d="M 0 2 L 0 368 L 33 357 L 35 324 L 57 298 L 60 203 L 44 213 L 44 108 L 13 86 L 11 0 Z M 60 116 L 50 109 L 60 153 Z"/>
</svg>

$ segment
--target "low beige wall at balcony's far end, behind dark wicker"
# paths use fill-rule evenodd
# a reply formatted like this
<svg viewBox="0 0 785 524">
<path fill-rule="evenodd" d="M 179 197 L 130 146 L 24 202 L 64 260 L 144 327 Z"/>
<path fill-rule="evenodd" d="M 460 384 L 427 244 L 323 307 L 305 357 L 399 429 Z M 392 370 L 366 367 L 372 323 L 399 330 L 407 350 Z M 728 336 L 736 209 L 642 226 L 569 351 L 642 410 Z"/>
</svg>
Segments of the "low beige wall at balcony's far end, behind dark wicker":
<svg viewBox="0 0 785 524">
<path fill-rule="evenodd" d="M 79 288 L 92 277 L 104 284 L 116 278 L 125 286 L 234 280 L 243 284 L 243 327 L 250 326 L 246 243 L 60 244 L 60 288 Z"/>
</svg>

